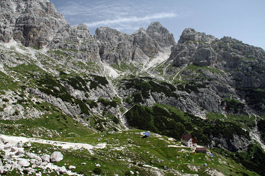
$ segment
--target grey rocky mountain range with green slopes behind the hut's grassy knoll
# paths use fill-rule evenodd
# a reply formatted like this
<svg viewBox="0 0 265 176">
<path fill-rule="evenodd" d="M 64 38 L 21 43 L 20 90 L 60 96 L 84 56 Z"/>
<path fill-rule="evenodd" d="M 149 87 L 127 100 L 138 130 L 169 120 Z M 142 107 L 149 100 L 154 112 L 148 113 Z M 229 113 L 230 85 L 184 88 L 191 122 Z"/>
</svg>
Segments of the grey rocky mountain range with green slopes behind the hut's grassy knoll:
<svg viewBox="0 0 265 176">
<path fill-rule="evenodd" d="M 138 128 L 176 139 L 191 133 L 230 152 L 264 149 L 261 48 L 191 28 L 175 43 L 159 22 L 92 36 L 49 1 L 30 2 L 0 1 L 8 12 L 0 13 L 3 133 L 63 138 Z"/>
</svg>

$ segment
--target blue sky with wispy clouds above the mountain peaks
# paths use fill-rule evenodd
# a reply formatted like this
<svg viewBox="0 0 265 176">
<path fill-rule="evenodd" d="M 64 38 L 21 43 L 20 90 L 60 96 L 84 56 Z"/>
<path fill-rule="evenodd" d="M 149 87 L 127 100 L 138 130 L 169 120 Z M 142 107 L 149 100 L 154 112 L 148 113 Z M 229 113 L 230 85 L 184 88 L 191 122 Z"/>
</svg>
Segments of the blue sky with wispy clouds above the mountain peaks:
<svg viewBox="0 0 265 176">
<path fill-rule="evenodd" d="M 84 23 L 92 34 L 97 27 L 132 33 L 153 21 L 173 33 L 175 41 L 185 28 L 194 28 L 217 38 L 231 36 L 265 49 L 265 1 L 94 1 L 50 0 L 70 25 Z"/>
</svg>

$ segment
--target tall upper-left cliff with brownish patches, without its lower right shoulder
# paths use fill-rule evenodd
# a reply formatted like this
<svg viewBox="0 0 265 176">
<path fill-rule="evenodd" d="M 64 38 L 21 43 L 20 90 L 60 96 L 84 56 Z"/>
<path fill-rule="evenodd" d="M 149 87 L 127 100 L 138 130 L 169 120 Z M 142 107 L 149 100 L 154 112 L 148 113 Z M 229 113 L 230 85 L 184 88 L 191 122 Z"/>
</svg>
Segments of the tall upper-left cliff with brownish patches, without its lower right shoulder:
<svg viewBox="0 0 265 176">
<path fill-rule="evenodd" d="M 0 1 L 0 40 L 14 39 L 24 46 L 46 45 L 58 28 L 68 24 L 48 0 Z"/>
</svg>

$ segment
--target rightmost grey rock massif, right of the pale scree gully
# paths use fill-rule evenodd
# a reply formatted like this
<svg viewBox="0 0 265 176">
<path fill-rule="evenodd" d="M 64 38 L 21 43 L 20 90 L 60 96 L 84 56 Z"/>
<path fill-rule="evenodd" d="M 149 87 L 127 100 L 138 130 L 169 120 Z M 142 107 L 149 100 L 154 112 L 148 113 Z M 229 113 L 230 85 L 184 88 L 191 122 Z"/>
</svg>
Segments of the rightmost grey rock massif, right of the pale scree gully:
<svg viewBox="0 0 265 176">
<path fill-rule="evenodd" d="M 218 40 L 187 28 L 171 47 L 170 59 L 173 66 L 193 63 L 231 72 L 233 86 L 264 87 L 265 51 L 231 37 Z"/>
</svg>

